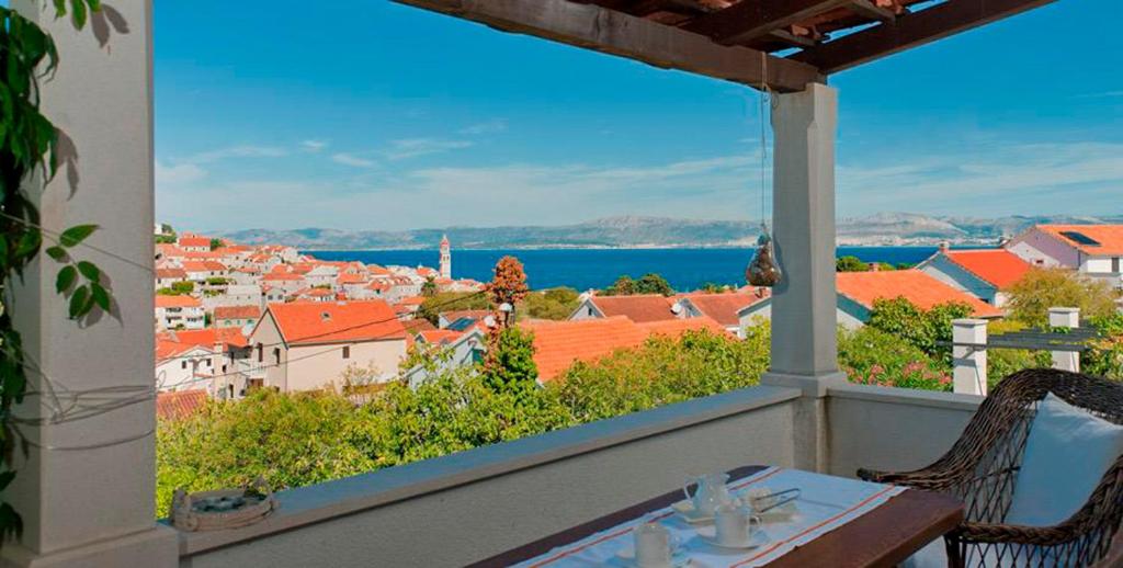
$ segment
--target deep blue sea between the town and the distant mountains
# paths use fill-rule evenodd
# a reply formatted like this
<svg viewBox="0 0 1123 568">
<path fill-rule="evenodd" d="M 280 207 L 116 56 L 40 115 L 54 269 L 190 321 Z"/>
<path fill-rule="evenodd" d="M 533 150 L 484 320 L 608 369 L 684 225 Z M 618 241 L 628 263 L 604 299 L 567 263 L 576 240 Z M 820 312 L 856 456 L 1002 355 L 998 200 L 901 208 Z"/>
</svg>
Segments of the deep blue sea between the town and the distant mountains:
<svg viewBox="0 0 1123 568">
<path fill-rule="evenodd" d="M 915 264 L 935 250 L 935 247 L 839 247 L 838 256 L 856 256 L 867 263 Z M 707 282 L 740 286 L 745 284 L 745 266 L 752 251 L 751 248 L 453 249 L 453 276 L 490 281 L 495 262 L 511 255 L 522 262 L 533 290 L 603 288 L 622 274 L 636 278 L 652 272 L 667 278 L 675 290 L 696 290 Z M 365 264 L 432 267 L 438 264 L 437 250 L 311 250 L 307 254 L 323 260 Z"/>
</svg>

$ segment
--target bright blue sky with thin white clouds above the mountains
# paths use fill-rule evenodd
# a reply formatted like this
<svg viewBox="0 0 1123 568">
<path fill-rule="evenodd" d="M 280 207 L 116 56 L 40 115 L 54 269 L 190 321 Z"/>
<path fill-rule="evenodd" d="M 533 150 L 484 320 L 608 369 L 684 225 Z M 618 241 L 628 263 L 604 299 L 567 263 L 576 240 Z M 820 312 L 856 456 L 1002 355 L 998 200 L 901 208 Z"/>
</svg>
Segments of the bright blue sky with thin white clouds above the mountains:
<svg viewBox="0 0 1123 568">
<path fill-rule="evenodd" d="M 1123 213 L 1119 16 L 1060 0 L 832 76 L 839 214 Z M 184 229 L 759 217 L 732 83 L 385 0 L 156 2 L 155 47 Z"/>
</svg>

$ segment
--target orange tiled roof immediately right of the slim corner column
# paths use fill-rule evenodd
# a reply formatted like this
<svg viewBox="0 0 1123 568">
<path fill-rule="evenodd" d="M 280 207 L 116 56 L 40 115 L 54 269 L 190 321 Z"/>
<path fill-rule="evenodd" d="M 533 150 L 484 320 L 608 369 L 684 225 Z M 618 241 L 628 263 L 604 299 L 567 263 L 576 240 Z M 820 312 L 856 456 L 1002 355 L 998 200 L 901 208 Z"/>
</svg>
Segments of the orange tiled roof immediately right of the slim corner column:
<svg viewBox="0 0 1123 568">
<path fill-rule="evenodd" d="M 907 271 L 843 272 L 837 275 L 838 292 L 855 302 L 873 308 L 875 300 L 904 296 L 917 308 L 929 310 L 948 302 L 971 306 L 977 318 L 995 318 L 1002 310 L 960 292 L 915 268 Z"/>
</svg>

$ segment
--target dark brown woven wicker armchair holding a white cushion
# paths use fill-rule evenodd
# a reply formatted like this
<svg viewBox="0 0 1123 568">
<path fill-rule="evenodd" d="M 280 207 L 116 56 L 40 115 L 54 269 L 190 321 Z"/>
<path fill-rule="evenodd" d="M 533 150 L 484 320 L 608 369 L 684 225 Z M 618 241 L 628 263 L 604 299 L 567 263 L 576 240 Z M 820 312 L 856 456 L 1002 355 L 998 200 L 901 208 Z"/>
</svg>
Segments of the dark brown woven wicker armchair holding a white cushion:
<svg viewBox="0 0 1123 568">
<path fill-rule="evenodd" d="M 859 469 L 858 476 L 962 500 L 966 521 L 944 538 L 950 566 L 1092 566 L 1105 557 L 1123 519 L 1123 457 L 1104 474 L 1084 507 L 1065 522 L 1003 523 L 1038 403 L 1050 392 L 1123 424 L 1123 384 L 1063 370 L 1022 370 L 998 384 L 951 450 L 931 466 L 907 473 Z"/>
</svg>

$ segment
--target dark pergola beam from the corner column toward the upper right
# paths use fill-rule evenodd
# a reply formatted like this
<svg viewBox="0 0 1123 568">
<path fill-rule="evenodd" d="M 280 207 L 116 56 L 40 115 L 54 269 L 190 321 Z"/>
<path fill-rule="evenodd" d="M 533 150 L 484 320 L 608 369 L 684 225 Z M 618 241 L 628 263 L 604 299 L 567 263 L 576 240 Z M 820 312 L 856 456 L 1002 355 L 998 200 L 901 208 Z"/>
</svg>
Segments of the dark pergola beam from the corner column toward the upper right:
<svg viewBox="0 0 1123 568">
<path fill-rule="evenodd" d="M 886 55 L 990 24 L 1056 0 L 948 0 L 925 10 L 810 47 L 791 57 L 837 73 Z"/>
</svg>

